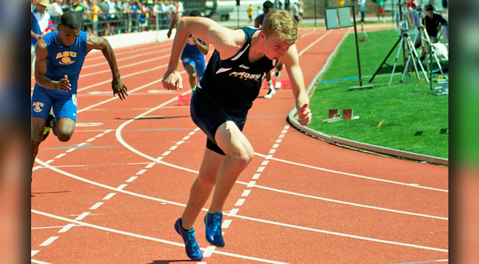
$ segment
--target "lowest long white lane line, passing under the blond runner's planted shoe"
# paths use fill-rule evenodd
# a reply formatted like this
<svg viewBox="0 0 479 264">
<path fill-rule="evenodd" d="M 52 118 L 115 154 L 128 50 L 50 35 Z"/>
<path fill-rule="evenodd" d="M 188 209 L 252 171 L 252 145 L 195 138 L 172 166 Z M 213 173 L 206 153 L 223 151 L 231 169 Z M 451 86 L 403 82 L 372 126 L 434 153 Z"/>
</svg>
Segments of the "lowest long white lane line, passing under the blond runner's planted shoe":
<svg viewBox="0 0 479 264">
<path fill-rule="evenodd" d="M 91 223 L 87 223 L 87 222 L 75 221 L 75 220 L 71 220 L 71 219 L 68 219 L 68 218 L 65 218 L 65 217 L 53 215 L 53 214 L 50 214 L 50 213 L 37 211 L 37 210 L 34 210 L 34 209 L 31 209 L 31 212 L 36 213 L 36 214 L 40 214 L 40 215 L 43 215 L 43 216 L 55 218 L 55 219 L 58 219 L 58 220 L 63 220 L 63 221 L 66 221 L 66 222 L 81 224 L 81 225 L 84 225 L 84 226 L 88 226 L 88 227 L 103 230 L 103 231 L 114 232 L 114 233 L 117 233 L 117 234 L 123 234 L 123 235 L 128 235 L 128 236 L 132 236 L 132 237 L 136 237 L 136 238 L 141 238 L 141 239 L 151 240 L 151 241 L 155 241 L 155 242 L 160 242 L 160 243 L 165 243 L 165 244 L 184 247 L 184 243 L 172 242 L 172 241 L 168 241 L 168 240 L 164 240 L 164 239 L 160 239 L 160 238 L 156 238 L 156 237 L 140 235 L 140 234 L 136 234 L 136 233 L 132 233 L 132 232 L 125 232 L 125 231 L 116 230 L 116 229 L 108 228 L 108 227 L 104 227 L 104 226 L 99 226 L 99 225 L 95 225 L 95 224 L 91 224 Z M 203 250 L 203 251 L 206 250 L 205 248 L 200 248 L 200 249 Z M 268 260 L 268 259 L 262 259 L 262 258 L 257 258 L 257 257 L 245 256 L 245 255 L 229 253 L 229 252 L 224 252 L 224 251 L 214 250 L 213 253 L 226 255 L 226 256 L 231 256 L 231 257 L 237 257 L 237 258 L 246 259 L 246 260 L 254 260 L 254 261 L 264 262 L 264 263 L 288 264 L 288 263 L 285 263 L 285 262 L 279 262 L 279 261 L 274 261 L 274 260 Z"/>
</svg>

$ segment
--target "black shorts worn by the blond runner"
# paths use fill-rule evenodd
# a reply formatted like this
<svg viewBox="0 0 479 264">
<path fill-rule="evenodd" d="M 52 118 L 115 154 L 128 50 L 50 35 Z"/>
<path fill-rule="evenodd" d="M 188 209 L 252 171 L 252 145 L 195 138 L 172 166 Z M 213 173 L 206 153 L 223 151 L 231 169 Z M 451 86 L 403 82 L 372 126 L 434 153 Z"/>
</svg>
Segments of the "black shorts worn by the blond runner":
<svg viewBox="0 0 479 264">
<path fill-rule="evenodd" d="M 206 148 L 218 154 L 225 155 L 223 150 L 216 144 L 216 130 L 223 123 L 230 120 L 238 126 L 240 131 L 243 131 L 248 111 L 234 111 L 222 107 L 215 103 L 214 100 L 198 93 L 196 89 L 191 96 L 190 114 L 194 124 L 206 134 Z"/>
</svg>

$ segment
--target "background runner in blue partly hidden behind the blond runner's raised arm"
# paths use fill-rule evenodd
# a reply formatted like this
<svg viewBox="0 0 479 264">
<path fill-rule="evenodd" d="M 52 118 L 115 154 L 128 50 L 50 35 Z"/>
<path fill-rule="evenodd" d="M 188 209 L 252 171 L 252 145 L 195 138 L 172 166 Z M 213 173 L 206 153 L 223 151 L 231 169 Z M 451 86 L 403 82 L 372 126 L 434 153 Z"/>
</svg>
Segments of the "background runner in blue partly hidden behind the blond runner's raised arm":
<svg viewBox="0 0 479 264">
<path fill-rule="evenodd" d="M 200 17 L 201 13 L 197 10 L 190 11 L 190 17 Z M 170 30 L 167 33 L 168 38 L 171 36 L 171 30 L 178 24 L 181 17 L 176 13 L 171 20 Z M 184 45 L 183 52 L 181 54 L 181 61 L 183 63 L 184 70 L 188 73 L 188 80 L 190 81 L 191 89 L 194 90 L 196 83 L 201 79 L 205 72 L 205 55 L 208 54 L 209 45 L 197 39 L 194 35 L 188 36 L 188 41 Z"/>
</svg>

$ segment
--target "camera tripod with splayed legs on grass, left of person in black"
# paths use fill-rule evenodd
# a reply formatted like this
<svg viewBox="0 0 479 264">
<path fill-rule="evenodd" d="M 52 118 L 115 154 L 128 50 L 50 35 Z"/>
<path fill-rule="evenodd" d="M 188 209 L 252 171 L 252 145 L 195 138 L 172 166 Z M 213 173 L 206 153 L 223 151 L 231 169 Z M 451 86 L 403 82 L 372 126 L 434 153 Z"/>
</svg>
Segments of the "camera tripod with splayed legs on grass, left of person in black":
<svg viewBox="0 0 479 264">
<path fill-rule="evenodd" d="M 396 70 L 396 64 L 398 63 L 399 53 L 401 53 L 401 49 L 402 49 L 403 45 L 405 47 L 404 50 L 403 50 L 403 61 L 404 62 L 406 61 L 406 56 L 405 56 L 406 49 L 409 50 L 409 55 L 408 55 L 408 61 L 404 65 L 404 73 L 403 73 L 403 76 L 402 76 L 402 79 L 401 79 L 400 82 L 402 83 L 402 80 L 404 79 L 404 74 L 406 74 L 406 72 L 407 72 L 410 60 L 412 60 L 412 63 L 414 64 L 414 70 L 416 72 L 416 76 L 418 77 L 418 80 L 420 79 L 419 72 L 418 72 L 418 69 L 417 69 L 417 66 L 416 66 L 416 61 L 419 61 L 418 53 L 416 52 L 416 49 L 414 48 L 414 43 L 412 42 L 411 37 L 408 34 L 406 22 L 402 21 L 401 23 L 404 26 L 403 26 L 403 28 L 401 28 L 401 33 L 399 35 L 398 41 L 396 42 L 396 44 L 394 44 L 392 49 L 389 51 L 388 55 L 386 56 L 384 61 L 381 63 L 381 65 L 379 65 L 376 72 L 373 74 L 373 76 L 369 80 L 369 83 L 371 83 L 373 81 L 374 77 L 376 76 L 376 74 L 379 72 L 379 70 L 381 69 L 381 67 L 384 64 L 388 65 L 386 63 L 386 61 L 388 60 L 389 55 L 391 55 L 391 53 L 394 51 L 394 49 L 396 48 L 396 46 L 398 44 L 399 44 L 398 54 L 396 55 L 396 58 L 394 59 L 394 66 L 392 68 L 391 78 L 389 79 L 389 86 L 391 86 L 392 76 L 394 75 L 394 71 Z M 417 34 L 416 34 L 416 36 L 417 36 Z M 424 70 L 424 67 L 422 67 L 422 63 L 419 63 L 419 65 L 421 66 L 421 70 L 422 70 L 422 73 L 424 74 L 424 76 L 426 78 L 426 81 L 429 83 L 429 78 L 427 77 L 427 73 Z M 388 65 L 388 66 L 390 67 L 390 65 Z"/>
</svg>

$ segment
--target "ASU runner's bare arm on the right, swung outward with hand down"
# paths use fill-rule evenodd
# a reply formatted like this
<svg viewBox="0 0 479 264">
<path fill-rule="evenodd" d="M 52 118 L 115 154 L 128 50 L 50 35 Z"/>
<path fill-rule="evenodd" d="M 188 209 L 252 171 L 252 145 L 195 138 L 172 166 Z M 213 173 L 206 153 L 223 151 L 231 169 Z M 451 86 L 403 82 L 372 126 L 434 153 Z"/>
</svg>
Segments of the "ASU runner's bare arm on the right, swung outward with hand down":
<svg viewBox="0 0 479 264">
<path fill-rule="evenodd" d="M 127 89 L 125 84 L 123 84 L 120 78 L 120 71 L 118 70 L 118 65 L 116 64 L 115 54 L 113 53 L 112 46 L 110 42 L 103 37 L 98 37 L 92 34 L 87 35 L 87 53 L 91 50 L 101 50 L 103 56 L 105 56 L 106 61 L 110 65 L 110 69 L 113 75 L 112 89 L 113 95 L 118 94 L 121 100 L 126 99 Z"/>
</svg>

